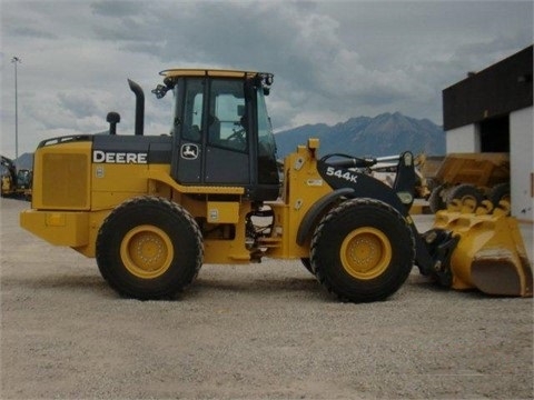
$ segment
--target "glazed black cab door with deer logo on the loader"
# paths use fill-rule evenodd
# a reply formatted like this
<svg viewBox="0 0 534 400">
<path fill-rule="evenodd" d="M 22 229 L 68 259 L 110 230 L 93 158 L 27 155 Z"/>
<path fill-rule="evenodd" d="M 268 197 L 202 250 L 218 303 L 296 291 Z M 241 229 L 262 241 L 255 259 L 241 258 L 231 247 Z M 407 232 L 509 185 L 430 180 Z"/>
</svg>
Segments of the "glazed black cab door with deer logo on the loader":
<svg viewBox="0 0 534 400">
<path fill-rule="evenodd" d="M 182 184 L 250 184 L 251 106 L 243 80 L 189 78 L 177 92 L 172 177 Z"/>
</svg>

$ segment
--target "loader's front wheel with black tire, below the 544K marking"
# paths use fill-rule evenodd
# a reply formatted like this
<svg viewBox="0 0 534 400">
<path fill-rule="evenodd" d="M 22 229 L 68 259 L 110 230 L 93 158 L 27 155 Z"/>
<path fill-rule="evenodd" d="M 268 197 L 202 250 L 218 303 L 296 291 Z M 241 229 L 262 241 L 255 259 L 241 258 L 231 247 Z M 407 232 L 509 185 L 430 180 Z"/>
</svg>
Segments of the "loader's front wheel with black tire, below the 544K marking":
<svg viewBox="0 0 534 400">
<path fill-rule="evenodd" d="M 385 300 L 406 281 L 414 257 L 406 220 L 374 199 L 352 199 L 334 208 L 312 239 L 313 270 L 342 301 Z"/>
</svg>

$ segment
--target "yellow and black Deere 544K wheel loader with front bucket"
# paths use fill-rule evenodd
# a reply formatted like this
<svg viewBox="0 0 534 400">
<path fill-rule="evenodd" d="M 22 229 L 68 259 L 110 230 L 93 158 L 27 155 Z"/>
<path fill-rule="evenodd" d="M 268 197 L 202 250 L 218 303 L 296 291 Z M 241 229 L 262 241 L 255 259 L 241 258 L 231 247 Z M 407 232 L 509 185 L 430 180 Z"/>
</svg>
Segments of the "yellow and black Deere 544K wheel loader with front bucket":
<svg viewBox="0 0 534 400">
<path fill-rule="evenodd" d="M 30 232 L 96 258 L 121 296 L 175 298 L 205 263 L 263 258 L 303 262 L 326 290 L 349 302 L 388 298 L 414 264 L 445 287 L 532 296 L 521 236 L 498 244 L 510 230 L 518 233 L 516 226 L 490 234 L 490 247 L 488 228 L 478 227 L 483 234 L 476 248 L 467 244 L 476 250 L 468 256 L 456 253 L 467 236 L 455 227 L 465 226 L 462 214 L 417 232 L 408 213 L 415 180 L 409 151 L 399 154 L 392 187 L 365 172 L 376 159 L 319 157 L 313 138 L 280 163 L 265 102 L 271 73 L 160 74 L 162 84 L 152 92 L 174 94 L 169 133 L 144 134 L 145 94 L 128 80 L 136 94 L 135 134 L 119 134 L 120 116 L 110 112 L 106 134 L 41 141 L 31 209 L 20 214 Z M 476 258 L 481 252 L 485 258 Z M 471 261 L 478 262 L 474 277 Z"/>
</svg>

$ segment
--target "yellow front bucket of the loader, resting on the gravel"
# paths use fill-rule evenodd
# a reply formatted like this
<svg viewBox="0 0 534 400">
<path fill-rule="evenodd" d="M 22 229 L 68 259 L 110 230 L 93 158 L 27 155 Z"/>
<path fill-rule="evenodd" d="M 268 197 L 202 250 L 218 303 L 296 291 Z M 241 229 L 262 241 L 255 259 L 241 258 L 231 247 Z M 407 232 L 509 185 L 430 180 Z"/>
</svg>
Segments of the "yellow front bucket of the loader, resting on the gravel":
<svg viewBox="0 0 534 400">
<path fill-rule="evenodd" d="M 435 228 L 458 236 L 451 257 L 453 289 L 487 294 L 532 297 L 533 278 L 517 220 L 506 204 L 492 210 L 484 202 L 474 213 L 447 209 L 436 213 Z"/>
</svg>

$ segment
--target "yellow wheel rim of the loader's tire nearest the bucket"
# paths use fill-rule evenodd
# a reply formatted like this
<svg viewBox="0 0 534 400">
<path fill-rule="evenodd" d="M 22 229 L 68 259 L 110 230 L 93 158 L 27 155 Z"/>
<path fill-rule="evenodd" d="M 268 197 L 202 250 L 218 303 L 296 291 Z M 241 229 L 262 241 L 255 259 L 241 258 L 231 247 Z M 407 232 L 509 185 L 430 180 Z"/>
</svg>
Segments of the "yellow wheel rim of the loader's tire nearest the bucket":
<svg viewBox="0 0 534 400">
<path fill-rule="evenodd" d="M 340 248 L 343 268 L 356 279 L 379 277 L 392 261 L 389 239 L 375 228 L 352 231 Z"/>
</svg>

